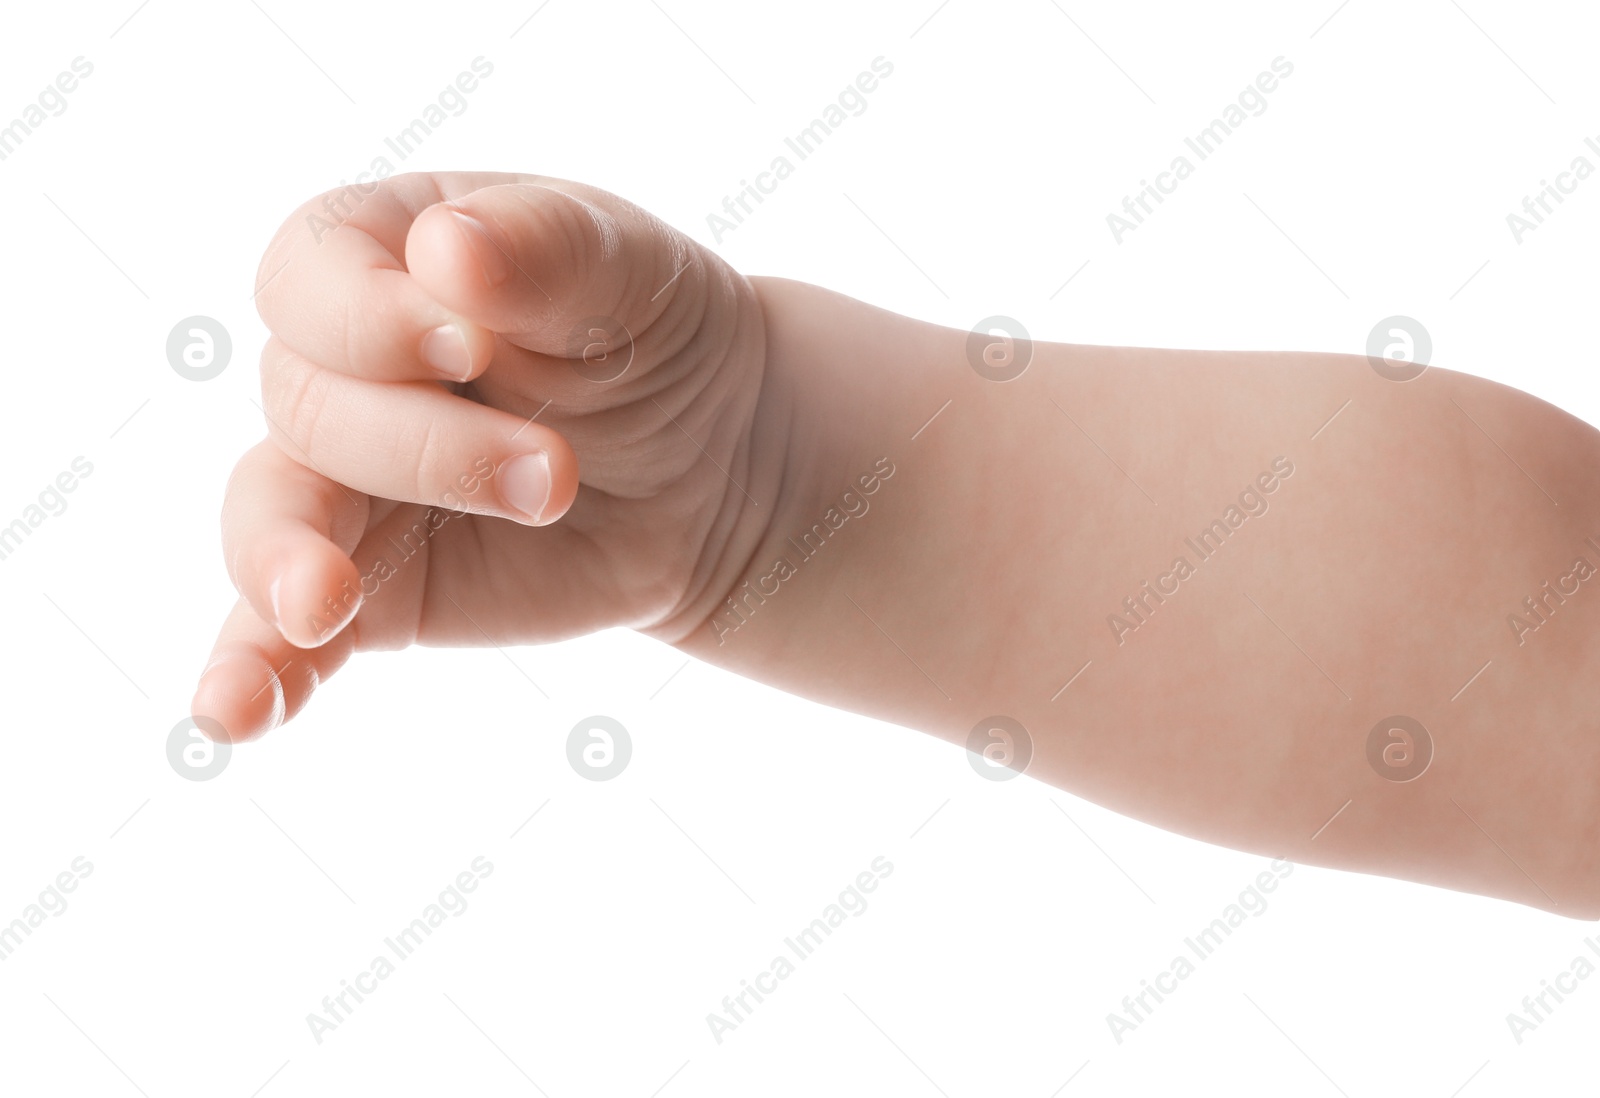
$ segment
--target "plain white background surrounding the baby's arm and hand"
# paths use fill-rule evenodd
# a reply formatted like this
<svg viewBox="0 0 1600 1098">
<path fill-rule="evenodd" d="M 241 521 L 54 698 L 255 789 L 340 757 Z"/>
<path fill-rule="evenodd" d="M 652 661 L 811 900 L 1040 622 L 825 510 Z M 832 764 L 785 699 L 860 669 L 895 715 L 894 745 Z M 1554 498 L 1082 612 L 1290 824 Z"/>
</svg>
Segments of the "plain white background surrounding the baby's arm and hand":
<svg viewBox="0 0 1600 1098">
<path fill-rule="evenodd" d="M 400 170 L 582 179 L 712 243 L 706 214 L 883 56 L 869 109 L 715 245 L 734 266 L 1077 343 L 1362 352 L 1408 314 L 1435 363 L 1595 421 L 1600 179 L 1522 243 L 1506 222 L 1600 134 L 1586 5 L 134 2 L 11 5 L 0 35 L 0 122 L 94 66 L 0 163 L 0 525 L 94 466 L 0 560 L 0 922 L 93 863 L 0 964 L 0 1088 L 1592 1088 L 1600 980 L 1520 1045 L 1506 1016 L 1594 927 L 1304 866 L 1118 1044 L 1106 1015 L 1261 858 L 629 634 L 366 656 L 211 781 L 165 752 L 234 599 L 216 515 L 262 434 L 261 250 L 474 58 L 494 74 Z M 1106 214 L 1277 56 L 1266 114 L 1118 245 Z M 214 381 L 165 357 L 194 314 L 235 341 Z M 632 735 L 613 781 L 566 762 L 590 714 Z M 478 855 L 470 908 L 314 1040 Z M 714 1040 L 878 855 L 870 908 Z"/>
</svg>

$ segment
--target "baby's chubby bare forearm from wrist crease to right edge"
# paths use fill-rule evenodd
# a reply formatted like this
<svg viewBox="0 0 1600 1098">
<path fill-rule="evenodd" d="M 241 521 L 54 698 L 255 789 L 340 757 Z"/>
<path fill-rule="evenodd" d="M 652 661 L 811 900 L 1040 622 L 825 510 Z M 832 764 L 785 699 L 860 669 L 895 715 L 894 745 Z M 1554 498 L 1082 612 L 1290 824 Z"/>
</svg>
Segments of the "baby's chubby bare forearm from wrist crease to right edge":
<svg viewBox="0 0 1600 1098">
<path fill-rule="evenodd" d="M 1590 427 L 1346 355 L 995 383 L 965 331 L 757 288 L 784 487 L 686 650 L 960 744 L 1010 717 L 1029 775 L 1189 836 L 1600 911 Z"/>
</svg>

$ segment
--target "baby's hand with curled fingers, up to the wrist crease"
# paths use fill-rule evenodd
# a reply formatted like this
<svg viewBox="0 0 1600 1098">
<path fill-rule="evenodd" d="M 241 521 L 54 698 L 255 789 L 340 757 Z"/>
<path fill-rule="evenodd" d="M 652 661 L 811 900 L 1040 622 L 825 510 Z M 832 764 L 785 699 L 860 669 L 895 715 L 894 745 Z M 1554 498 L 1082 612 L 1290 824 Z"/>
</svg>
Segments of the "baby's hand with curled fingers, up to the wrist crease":
<svg viewBox="0 0 1600 1098">
<path fill-rule="evenodd" d="M 781 477 L 762 307 L 714 253 L 562 179 L 368 187 L 306 203 L 261 266 L 269 431 L 229 480 L 242 597 L 192 706 L 216 736 L 357 650 L 688 635 Z"/>
</svg>

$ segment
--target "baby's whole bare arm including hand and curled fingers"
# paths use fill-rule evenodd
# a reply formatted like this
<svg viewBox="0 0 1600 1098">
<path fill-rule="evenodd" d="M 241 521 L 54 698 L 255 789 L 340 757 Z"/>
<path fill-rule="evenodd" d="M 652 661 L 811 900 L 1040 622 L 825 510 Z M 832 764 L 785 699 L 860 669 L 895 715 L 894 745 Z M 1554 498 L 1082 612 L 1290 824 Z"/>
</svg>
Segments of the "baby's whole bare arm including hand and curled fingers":
<svg viewBox="0 0 1600 1098">
<path fill-rule="evenodd" d="M 269 437 L 192 706 L 219 736 L 354 651 L 629 626 L 955 744 L 1006 715 L 1027 775 L 1174 832 L 1600 917 L 1579 419 L 1365 355 L 1034 343 L 998 383 L 966 331 L 746 279 L 581 184 L 342 205 L 261 267 Z M 1394 715 L 1410 781 L 1368 757 Z"/>
</svg>

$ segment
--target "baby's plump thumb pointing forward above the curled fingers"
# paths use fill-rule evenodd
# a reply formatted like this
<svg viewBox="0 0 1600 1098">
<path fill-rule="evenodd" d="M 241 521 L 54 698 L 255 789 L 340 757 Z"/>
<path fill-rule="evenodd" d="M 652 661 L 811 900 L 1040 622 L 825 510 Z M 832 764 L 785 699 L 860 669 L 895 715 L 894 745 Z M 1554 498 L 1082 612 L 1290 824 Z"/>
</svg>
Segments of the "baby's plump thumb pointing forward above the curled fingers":
<svg viewBox="0 0 1600 1098">
<path fill-rule="evenodd" d="M 675 301 L 682 309 L 702 296 L 707 279 L 704 251 L 683 234 L 624 198 L 560 179 L 429 206 L 405 259 L 446 309 L 558 359 L 586 359 L 598 343 L 603 357 L 638 339 Z"/>
</svg>

